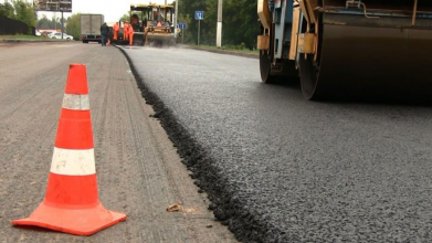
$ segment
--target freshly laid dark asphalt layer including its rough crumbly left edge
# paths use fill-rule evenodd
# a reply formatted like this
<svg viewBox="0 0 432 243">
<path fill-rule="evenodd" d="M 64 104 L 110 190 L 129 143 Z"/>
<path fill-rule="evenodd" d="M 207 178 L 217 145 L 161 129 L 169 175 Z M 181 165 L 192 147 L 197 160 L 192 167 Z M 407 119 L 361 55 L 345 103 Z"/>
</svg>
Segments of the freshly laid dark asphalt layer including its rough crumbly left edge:
<svg viewBox="0 0 432 243">
<path fill-rule="evenodd" d="M 307 102 L 298 81 L 261 83 L 255 59 L 120 49 L 239 240 L 432 241 L 430 105 Z"/>
</svg>

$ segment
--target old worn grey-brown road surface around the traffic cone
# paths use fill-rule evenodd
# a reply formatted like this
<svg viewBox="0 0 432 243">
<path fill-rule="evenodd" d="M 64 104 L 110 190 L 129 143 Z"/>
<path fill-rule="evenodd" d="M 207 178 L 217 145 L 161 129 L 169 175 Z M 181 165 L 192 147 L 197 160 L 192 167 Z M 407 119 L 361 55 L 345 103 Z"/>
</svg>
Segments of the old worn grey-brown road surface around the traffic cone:
<svg viewBox="0 0 432 243">
<path fill-rule="evenodd" d="M 45 196 L 71 63 L 87 67 L 99 200 L 127 214 L 92 236 L 13 228 Z M 236 242 L 214 221 L 116 47 L 0 42 L 0 242 Z M 170 204 L 182 211 L 168 213 Z"/>
</svg>

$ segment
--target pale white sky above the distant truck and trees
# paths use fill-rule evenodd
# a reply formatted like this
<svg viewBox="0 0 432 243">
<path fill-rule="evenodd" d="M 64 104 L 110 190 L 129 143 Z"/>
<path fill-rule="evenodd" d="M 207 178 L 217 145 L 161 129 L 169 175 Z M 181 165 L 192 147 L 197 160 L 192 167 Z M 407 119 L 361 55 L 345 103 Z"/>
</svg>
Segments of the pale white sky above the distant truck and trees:
<svg viewBox="0 0 432 243">
<path fill-rule="evenodd" d="M 0 0 L 0 3 L 6 0 Z M 33 2 L 32 0 L 27 0 L 28 2 Z M 104 14 L 105 22 L 116 22 L 125 13 L 129 11 L 130 4 L 147 4 L 149 2 L 164 4 L 165 0 L 72 0 L 72 13 L 98 13 Z M 9 1 L 11 2 L 11 1 Z M 167 3 L 170 4 L 172 0 L 167 0 Z M 72 13 L 63 13 L 63 17 L 67 19 Z M 38 12 L 38 17 L 42 18 L 42 14 L 45 14 L 46 18 L 51 19 L 53 12 Z M 56 17 L 61 17 L 62 13 L 55 13 Z"/>
</svg>

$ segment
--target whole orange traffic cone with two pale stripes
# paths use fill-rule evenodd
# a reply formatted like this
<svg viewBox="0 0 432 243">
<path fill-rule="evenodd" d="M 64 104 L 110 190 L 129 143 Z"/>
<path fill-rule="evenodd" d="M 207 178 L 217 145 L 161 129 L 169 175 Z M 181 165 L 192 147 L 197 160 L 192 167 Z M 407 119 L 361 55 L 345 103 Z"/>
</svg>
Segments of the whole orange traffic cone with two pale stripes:
<svg viewBox="0 0 432 243">
<path fill-rule="evenodd" d="M 71 64 L 45 199 L 12 224 L 91 235 L 125 220 L 99 202 L 86 68 Z"/>
</svg>

